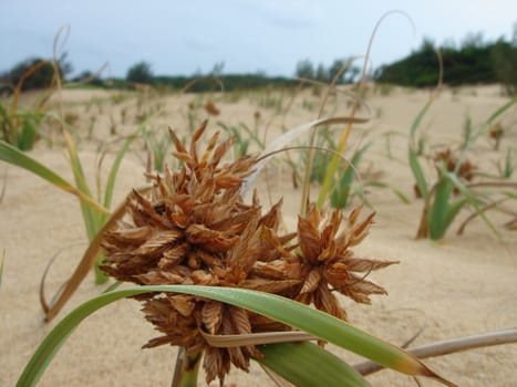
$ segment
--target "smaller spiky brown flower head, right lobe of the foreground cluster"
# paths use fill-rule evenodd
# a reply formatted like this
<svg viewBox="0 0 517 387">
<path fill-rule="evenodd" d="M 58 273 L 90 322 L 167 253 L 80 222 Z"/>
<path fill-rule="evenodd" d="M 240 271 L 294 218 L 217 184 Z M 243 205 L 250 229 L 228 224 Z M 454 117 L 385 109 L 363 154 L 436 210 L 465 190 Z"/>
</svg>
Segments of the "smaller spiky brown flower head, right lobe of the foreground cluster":
<svg viewBox="0 0 517 387">
<path fill-rule="evenodd" d="M 359 221 L 360 212 L 361 207 L 355 208 L 343 222 L 340 210 L 325 217 L 311 206 L 306 217 L 299 217 L 302 284 L 294 300 L 313 303 L 317 308 L 345 320 L 347 313 L 332 292 L 366 304 L 371 302 L 370 295 L 386 294 L 366 276 L 396 262 L 355 258 L 351 250 L 368 236 L 373 222 L 374 213 Z"/>
</svg>

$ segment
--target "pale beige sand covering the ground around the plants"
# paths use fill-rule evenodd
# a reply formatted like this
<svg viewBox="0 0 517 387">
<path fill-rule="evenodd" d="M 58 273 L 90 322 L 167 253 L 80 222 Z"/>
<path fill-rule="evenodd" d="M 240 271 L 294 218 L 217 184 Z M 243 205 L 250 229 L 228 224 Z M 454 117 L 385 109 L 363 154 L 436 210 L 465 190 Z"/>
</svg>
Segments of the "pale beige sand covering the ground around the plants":
<svg viewBox="0 0 517 387">
<path fill-rule="evenodd" d="M 138 127 L 134 122 L 137 102 L 132 95 L 116 103 L 113 95 L 122 95 L 117 92 L 95 93 L 96 100 L 92 100 L 93 94 L 87 91 L 68 91 L 63 94 L 65 111 L 76 114 L 79 118 L 75 125 L 83 138 L 80 155 L 91 179 L 95 171 L 97 145 L 114 138 L 110 135 L 111 123 L 116 123 L 118 135 L 132 133 Z M 395 88 L 386 96 L 373 92 L 368 96 L 374 119 L 364 127 L 371 128 L 369 133 L 373 134 L 375 145 L 366 154 L 361 169 L 365 175 L 374 172 L 383 181 L 396 184 L 411 202 L 403 203 L 387 190 L 375 189 L 369 194 L 368 198 L 378 212 L 376 221 L 371 234 L 355 249 L 356 255 L 395 259 L 400 264 L 372 275 L 389 291 L 387 296 L 375 296 L 372 305 L 356 305 L 343 300 L 353 324 L 395 344 L 404 343 L 425 326 L 412 346 L 516 327 L 517 324 L 517 233 L 502 227 L 509 220 L 507 217 L 490 216 L 500 232 L 499 238 L 480 220 L 473 221 L 465 234 L 456 236 L 457 226 L 467 216 L 465 212 L 444 240 L 432 242 L 414 239 L 422 201 L 413 197 L 413 179 L 405 159 L 406 135 L 428 94 L 425 91 Z M 210 97 L 221 111 L 220 116 L 210 118 L 210 128 L 216 128 L 218 121 L 227 125 L 246 123 L 254 127 L 254 114 L 258 111 L 260 133 L 263 134 L 268 126 L 268 138 L 272 138 L 282 125 L 292 127 L 317 116 L 317 108 L 308 111 L 303 107 L 303 103 L 307 106 L 310 102 L 318 102 L 310 92 L 297 96 L 286 116 L 275 108 L 261 107 L 257 96 L 244 96 L 237 102 L 218 94 Z M 194 95 L 149 95 L 145 103 L 148 106 L 161 104 L 157 107 L 161 112 L 146 125 L 165 128 L 168 124 L 185 128 L 187 104 L 203 104 L 207 96 L 204 98 L 201 101 Z M 287 101 L 288 96 L 283 106 Z M 444 91 L 422 128 L 430 144 L 457 145 L 467 115 L 474 124 L 478 124 L 506 101 L 497 86 Z M 329 113 L 334 106 L 338 113 L 347 113 L 344 98 L 332 101 Z M 123 109 L 126 111 L 124 124 Z M 195 121 L 200 122 L 206 113 L 203 108 L 196 112 Z M 84 138 L 87 137 L 93 116 L 94 129 L 91 139 L 86 140 Z M 514 134 L 506 139 L 507 146 L 513 147 L 517 145 L 515 118 L 515 111 L 506 118 L 514 125 Z M 351 144 L 358 144 L 363 132 L 358 129 Z M 384 140 L 390 133 L 392 158 L 386 155 Z M 493 169 L 494 160 L 500 159 L 504 154 L 493 150 L 493 144 L 484 137 L 476 143 L 474 155 L 475 163 L 483 169 Z M 31 156 L 72 179 L 60 146 L 50 148 L 39 143 Z M 292 156 L 298 158 L 298 155 Z M 124 159 L 115 202 L 122 200 L 132 187 L 144 182 L 144 160 L 139 146 L 135 146 L 134 151 Z M 2 175 L 6 168 L 4 164 L 0 164 Z M 286 198 L 286 218 L 288 223 L 292 223 L 300 192 L 290 184 L 289 169 L 282 168 L 277 176 L 270 176 L 269 190 L 273 197 Z M 12 386 L 45 334 L 76 305 L 99 294 L 104 286 L 94 285 L 93 275 L 89 275 L 55 321 L 43 323 L 39 304 L 42 273 L 50 259 L 56 257 L 46 280 L 46 296 L 51 297 L 72 273 L 86 245 L 81 212 L 72 196 L 24 170 L 9 167 L 6 181 L 6 194 L 0 203 L 0 251 L 4 251 L 6 257 L 0 286 L 0 385 Z M 265 181 L 265 177 L 261 177 L 257 184 L 262 191 Z M 121 301 L 86 318 L 58 353 L 40 385 L 168 386 L 175 349 L 141 349 L 155 333 L 142 318 L 138 308 L 135 301 Z M 359 360 L 353 355 L 341 351 L 338 353 L 352 363 Z M 459 386 L 509 387 L 517 384 L 515 344 L 448 355 L 425 363 Z M 373 386 L 415 385 L 411 378 L 391 370 L 380 372 L 368 379 Z M 428 379 L 421 381 L 423 386 L 438 385 Z M 227 384 L 273 386 L 256 366 L 249 374 L 232 372 Z"/>
</svg>

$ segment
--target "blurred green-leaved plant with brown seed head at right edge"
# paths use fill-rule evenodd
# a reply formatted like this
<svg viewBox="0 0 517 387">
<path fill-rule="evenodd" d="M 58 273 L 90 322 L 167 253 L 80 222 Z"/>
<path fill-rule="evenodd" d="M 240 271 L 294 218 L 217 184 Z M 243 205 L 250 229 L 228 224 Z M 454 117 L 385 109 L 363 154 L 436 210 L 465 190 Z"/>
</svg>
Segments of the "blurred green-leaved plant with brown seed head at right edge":
<svg viewBox="0 0 517 387">
<path fill-rule="evenodd" d="M 409 161 L 415 178 L 415 195 L 424 200 L 420 226 L 416 238 L 431 238 L 433 240 L 444 238 L 448 228 L 456 219 L 458 213 L 467 207 L 471 207 L 475 216 L 467 218 L 474 219 L 479 216 L 490 230 L 498 234 L 498 231 L 492 224 L 485 212 L 497 209 L 503 201 L 515 199 L 515 192 L 506 191 L 506 188 L 514 189 L 516 185 L 511 182 L 502 182 L 494 180 L 472 182 L 475 176 L 488 176 L 467 159 L 468 151 L 475 142 L 486 133 L 487 128 L 505 112 L 507 112 L 517 100 L 514 98 L 499 107 L 492 116 L 483 123 L 478 130 L 474 130 L 471 119 L 467 117 L 464 126 L 464 140 L 457 149 L 446 148 L 435 155 L 428 156 L 420 151 L 423 147 L 417 138 L 417 128 L 433 104 L 436 93 L 434 93 L 428 103 L 416 116 L 410 130 L 409 137 Z M 436 179 L 428 180 L 424 174 L 420 158 L 426 157 L 432 160 L 436 169 Z M 483 190 L 479 190 L 482 188 Z M 487 188 L 492 188 L 487 190 Z M 500 197 L 505 200 L 500 200 Z M 457 233 L 462 233 L 465 222 L 459 227 Z"/>
</svg>

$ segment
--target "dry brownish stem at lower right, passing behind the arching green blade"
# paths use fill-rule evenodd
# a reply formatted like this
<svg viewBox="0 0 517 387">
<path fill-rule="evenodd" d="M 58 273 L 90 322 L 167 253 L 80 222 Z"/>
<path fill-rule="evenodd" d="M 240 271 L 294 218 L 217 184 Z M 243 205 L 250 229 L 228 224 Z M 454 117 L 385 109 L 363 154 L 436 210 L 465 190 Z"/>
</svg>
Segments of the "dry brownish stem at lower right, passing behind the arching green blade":
<svg viewBox="0 0 517 387">
<path fill-rule="evenodd" d="M 517 343 L 517 328 L 503 330 L 496 332 L 484 333 L 480 335 L 466 336 L 459 338 L 453 338 L 444 342 L 433 343 L 423 345 L 421 347 L 406 349 L 410 354 L 417 358 L 427 358 L 435 356 L 443 356 L 454 354 L 456 352 L 483 348 L 494 345 L 511 344 Z M 370 375 L 383 369 L 373 362 L 364 362 L 356 364 L 354 368 L 361 375 Z"/>
</svg>

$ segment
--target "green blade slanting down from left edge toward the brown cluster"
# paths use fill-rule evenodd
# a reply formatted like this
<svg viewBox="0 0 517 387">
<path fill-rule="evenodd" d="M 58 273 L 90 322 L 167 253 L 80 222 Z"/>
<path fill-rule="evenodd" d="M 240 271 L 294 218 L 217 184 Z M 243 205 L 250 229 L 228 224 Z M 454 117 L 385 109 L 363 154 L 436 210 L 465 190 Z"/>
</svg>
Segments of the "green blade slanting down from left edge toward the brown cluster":
<svg viewBox="0 0 517 387">
<path fill-rule="evenodd" d="M 77 190 L 74 186 L 72 186 L 69 181 L 55 174 L 53 170 L 46 168 L 41 163 L 37 161 L 29 155 L 24 154 L 23 151 L 17 149 L 14 146 L 9 145 L 3 140 L 0 140 L 0 160 L 23 168 L 49 181 L 55 187 L 69 194 L 75 195 L 77 198 L 81 199 L 81 202 L 87 203 L 90 207 L 95 208 L 97 211 L 107 212 L 107 210 L 104 207 L 100 206 L 92 198 L 85 196 L 83 192 Z"/>
</svg>

